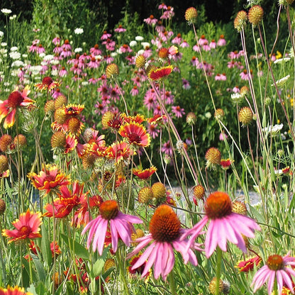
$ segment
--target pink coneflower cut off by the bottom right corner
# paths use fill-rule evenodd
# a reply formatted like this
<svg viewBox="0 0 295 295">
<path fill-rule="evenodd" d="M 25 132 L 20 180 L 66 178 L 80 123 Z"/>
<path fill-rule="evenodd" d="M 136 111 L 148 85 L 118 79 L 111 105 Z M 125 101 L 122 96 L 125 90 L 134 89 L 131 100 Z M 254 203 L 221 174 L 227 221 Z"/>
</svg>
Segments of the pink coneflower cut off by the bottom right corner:
<svg viewBox="0 0 295 295">
<path fill-rule="evenodd" d="M 290 251 L 291 252 L 291 251 Z M 295 277 L 295 271 L 291 267 L 295 266 L 295 257 L 271 255 L 267 259 L 267 264 L 261 267 L 253 277 L 251 286 L 254 285 L 253 292 L 256 292 L 265 282 L 268 281 L 267 291 L 272 294 L 274 282 L 277 282 L 277 291 L 282 294 L 283 286 L 286 285 L 294 294 L 294 287 L 291 277 Z M 287 267 L 290 265 L 291 267 Z"/>
</svg>

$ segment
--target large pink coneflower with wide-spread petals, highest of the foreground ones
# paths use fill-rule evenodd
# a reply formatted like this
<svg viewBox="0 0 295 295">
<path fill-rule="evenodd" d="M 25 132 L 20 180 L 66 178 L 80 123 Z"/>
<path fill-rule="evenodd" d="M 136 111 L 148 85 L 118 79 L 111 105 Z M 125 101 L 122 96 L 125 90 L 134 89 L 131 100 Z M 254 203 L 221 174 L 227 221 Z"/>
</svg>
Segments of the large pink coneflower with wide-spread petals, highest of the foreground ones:
<svg viewBox="0 0 295 295">
<path fill-rule="evenodd" d="M 194 243 L 195 238 L 201 233 L 206 223 L 209 223 L 205 240 L 207 258 L 212 255 L 217 246 L 226 252 L 228 240 L 237 245 L 243 252 L 246 252 L 247 248 L 243 235 L 254 238 L 254 230 L 260 230 L 260 226 L 252 218 L 233 213 L 230 197 L 221 191 L 216 191 L 208 196 L 205 212 L 206 216 L 182 235 L 182 238 L 191 235 L 189 245 L 192 245 L 191 243 Z"/>
</svg>

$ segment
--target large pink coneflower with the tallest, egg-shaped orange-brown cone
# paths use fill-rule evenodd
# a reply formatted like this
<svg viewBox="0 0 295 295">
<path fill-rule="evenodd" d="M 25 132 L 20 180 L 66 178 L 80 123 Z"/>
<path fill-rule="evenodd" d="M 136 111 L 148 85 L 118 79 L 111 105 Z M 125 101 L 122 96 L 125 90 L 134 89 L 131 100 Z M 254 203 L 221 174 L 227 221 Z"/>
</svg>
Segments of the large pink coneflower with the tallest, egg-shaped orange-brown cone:
<svg viewBox="0 0 295 295">
<path fill-rule="evenodd" d="M 138 245 L 127 255 L 127 258 L 133 257 L 151 243 L 135 262 L 132 269 L 144 265 L 145 268 L 141 276 L 145 277 L 150 267 L 154 265 L 155 279 L 158 279 L 161 275 L 162 279 L 166 280 L 167 275 L 174 267 L 175 257 L 173 250 L 181 253 L 184 264 L 191 262 L 192 265 L 198 265 L 193 250 L 201 251 L 201 248 L 196 243 L 188 247 L 188 240 L 180 240 L 184 232 L 185 230 L 180 226 L 179 218 L 170 206 L 160 205 L 157 207 L 150 221 L 150 233 L 135 240 Z"/>
</svg>

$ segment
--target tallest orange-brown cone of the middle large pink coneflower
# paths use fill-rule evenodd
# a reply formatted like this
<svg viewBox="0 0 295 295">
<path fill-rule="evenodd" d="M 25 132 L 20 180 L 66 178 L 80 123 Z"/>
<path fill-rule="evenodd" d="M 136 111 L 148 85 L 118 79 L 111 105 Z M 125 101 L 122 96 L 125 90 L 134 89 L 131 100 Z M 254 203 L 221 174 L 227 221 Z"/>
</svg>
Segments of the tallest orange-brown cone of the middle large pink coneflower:
<svg viewBox="0 0 295 295">
<path fill-rule="evenodd" d="M 157 207 L 150 221 L 152 238 L 159 242 L 172 242 L 179 236 L 180 221 L 168 205 Z"/>
</svg>

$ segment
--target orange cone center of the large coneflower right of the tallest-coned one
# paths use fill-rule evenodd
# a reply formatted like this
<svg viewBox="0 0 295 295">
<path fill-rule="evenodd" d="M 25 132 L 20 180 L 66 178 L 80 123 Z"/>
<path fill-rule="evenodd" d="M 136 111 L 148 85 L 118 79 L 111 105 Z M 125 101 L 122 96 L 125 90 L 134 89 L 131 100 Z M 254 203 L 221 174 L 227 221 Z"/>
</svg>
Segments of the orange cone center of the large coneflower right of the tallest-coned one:
<svg viewBox="0 0 295 295">
<path fill-rule="evenodd" d="M 210 196 L 205 204 L 205 211 L 208 218 L 222 218 L 232 213 L 232 204 L 228 194 L 216 191 Z"/>
</svg>

